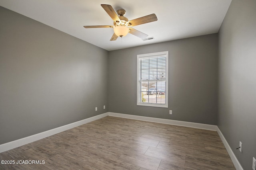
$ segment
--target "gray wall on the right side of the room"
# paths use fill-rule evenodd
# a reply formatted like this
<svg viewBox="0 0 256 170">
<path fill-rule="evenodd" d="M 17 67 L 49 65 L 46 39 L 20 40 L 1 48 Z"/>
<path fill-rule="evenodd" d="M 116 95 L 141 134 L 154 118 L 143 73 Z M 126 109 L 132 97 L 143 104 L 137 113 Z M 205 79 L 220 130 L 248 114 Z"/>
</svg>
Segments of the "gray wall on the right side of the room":
<svg viewBox="0 0 256 170">
<path fill-rule="evenodd" d="M 244 170 L 256 158 L 256 1 L 232 0 L 219 31 L 218 127 Z M 242 153 L 236 150 L 242 142 Z"/>
</svg>

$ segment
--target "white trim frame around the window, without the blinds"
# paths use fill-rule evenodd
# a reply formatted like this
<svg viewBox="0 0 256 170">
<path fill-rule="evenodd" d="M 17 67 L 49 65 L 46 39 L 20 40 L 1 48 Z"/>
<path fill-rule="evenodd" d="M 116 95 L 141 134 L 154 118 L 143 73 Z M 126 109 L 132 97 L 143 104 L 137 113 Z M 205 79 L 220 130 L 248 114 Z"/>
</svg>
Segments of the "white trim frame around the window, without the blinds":
<svg viewBox="0 0 256 170">
<path fill-rule="evenodd" d="M 146 57 L 154 57 L 158 55 L 166 55 L 166 104 L 148 104 L 148 103 L 141 103 L 140 102 L 140 95 L 139 95 L 139 59 L 146 58 Z M 168 67 L 168 51 L 162 51 L 158 53 L 148 53 L 148 54 L 140 54 L 137 55 L 137 105 L 138 106 L 152 106 L 152 107 L 166 107 L 168 108 L 168 80 L 169 80 L 169 67 Z"/>
</svg>

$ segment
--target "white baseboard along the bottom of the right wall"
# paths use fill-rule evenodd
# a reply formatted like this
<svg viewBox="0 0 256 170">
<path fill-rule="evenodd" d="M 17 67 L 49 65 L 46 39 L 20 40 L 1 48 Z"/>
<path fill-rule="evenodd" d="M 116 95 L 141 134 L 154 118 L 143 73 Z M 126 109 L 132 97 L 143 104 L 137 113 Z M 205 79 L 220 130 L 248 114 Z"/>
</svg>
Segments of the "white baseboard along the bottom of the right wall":
<svg viewBox="0 0 256 170">
<path fill-rule="evenodd" d="M 239 163 L 238 159 L 236 158 L 236 155 L 234 154 L 234 152 L 232 151 L 232 149 L 228 145 L 228 142 L 226 141 L 224 135 L 221 133 L 221 131 L 218 127 L 217 127 L 217 133 L 219 134 L 220 139 L 222 140 L 222 143 L 224 144 L 226 150 L 228 151 L 228 154 L 229 154 L 236 170 L 244 170 L 243 167 L 241 166 L 241 164 Z"/>
</svg>

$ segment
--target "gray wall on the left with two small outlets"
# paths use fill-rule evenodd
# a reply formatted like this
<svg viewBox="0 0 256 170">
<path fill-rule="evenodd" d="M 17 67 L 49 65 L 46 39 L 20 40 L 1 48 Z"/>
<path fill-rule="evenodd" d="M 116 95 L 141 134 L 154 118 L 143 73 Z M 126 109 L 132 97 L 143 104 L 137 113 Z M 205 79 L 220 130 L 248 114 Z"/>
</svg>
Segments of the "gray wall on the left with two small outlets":
<svg viewBox="0 0 256 170">
<path fill-rule="evenodd" d="M 107 63 L 108 51 L 0 7 L 0 144 L 107 112 Z"/>
</svg>

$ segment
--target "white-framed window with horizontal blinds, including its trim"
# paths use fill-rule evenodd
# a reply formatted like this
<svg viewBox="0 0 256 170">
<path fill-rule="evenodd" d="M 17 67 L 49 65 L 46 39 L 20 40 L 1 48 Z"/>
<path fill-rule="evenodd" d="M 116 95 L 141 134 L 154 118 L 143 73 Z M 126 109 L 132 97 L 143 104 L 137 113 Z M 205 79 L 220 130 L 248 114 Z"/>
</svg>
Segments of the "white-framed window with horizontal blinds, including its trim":
<svg viewBox="0 0 256 170">
<path fill-rule="evenodd" d="M 137 55 L 137 105 L 168 107 L 168 51 Z"/>
</svg>

